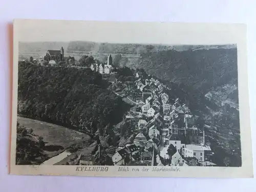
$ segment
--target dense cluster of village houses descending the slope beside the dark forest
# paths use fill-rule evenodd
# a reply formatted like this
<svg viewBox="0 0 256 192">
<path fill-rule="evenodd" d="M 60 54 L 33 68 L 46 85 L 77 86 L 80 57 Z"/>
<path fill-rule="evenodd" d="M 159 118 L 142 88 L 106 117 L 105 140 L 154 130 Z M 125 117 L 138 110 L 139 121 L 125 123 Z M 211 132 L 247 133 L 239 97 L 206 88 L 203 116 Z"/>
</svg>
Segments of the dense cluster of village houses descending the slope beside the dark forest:
<svg viewBox="0 0 256 192">
<path fill-rule="evenodd" d="M 204 131 L 189 125 L 195 117 L 188 107 L 180 104 L 179 98 L 170 101 L 164 91 L 166 87 L 156 79 L 143 81 L 139 78 L 135 83 L 137 89 L 142 92 L 142 100 L 136 101 L 136 105 L 141 109 L 141 118 L 137 125 L 140 133 L 132 144 L 137 150 L 132 152 L 127 146 L 119 147 L 112 157 L 114 164 L 124 165 L 132 162 L 153 165 L 154 153 L 157 153 L 164 159 L 170 158 L 170 166 L 215 165 L 210 161 L 214 153 L 205 144 Z M 150 120 L 147 120 L 148 118 Z M 144 135 L 145 133 L 147 135 Z M 164 145 L 162 150 L 161 144 Z M 166 155 L 170 144 L 177 149 L 172 157 Z M 162 165 L 161 162 L 158 165 Z"/>
</svg>

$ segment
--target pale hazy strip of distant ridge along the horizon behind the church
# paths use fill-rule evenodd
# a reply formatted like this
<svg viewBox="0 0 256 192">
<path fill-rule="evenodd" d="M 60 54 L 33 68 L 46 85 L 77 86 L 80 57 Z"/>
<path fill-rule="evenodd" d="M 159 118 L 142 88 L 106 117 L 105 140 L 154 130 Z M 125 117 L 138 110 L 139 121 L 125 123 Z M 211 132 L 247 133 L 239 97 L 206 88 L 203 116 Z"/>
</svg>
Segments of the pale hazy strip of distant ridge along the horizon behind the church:
<svg viewBox="0 0 256 192">
<path fill-rule="evenodd" d="M 232 49 L 236 45 L 156 45 L 156 44 L 112 44 L 109 42 L 93 42 L 93 41 L 46 41 L 46 42 L 19 42 L 19 52 L 28 52 L 27 50 L 35 50 L 44 52 L 49 49 L 58 50 L 61 47 L 65 52 L 90 52 L 91 54 L 141 54 L 147 51 L 187 51 L 187 50 L 209 50 L 209 49 Z"/>
</svg>

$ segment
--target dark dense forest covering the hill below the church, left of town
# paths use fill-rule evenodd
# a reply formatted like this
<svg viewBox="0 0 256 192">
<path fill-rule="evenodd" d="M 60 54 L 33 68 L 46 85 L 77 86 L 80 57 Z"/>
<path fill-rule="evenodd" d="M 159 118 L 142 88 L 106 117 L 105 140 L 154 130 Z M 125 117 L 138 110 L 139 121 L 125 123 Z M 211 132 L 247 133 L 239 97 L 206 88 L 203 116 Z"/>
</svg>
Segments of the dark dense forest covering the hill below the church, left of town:
<svg viewBox="0 0 256 192">
<path fill-rule="evenodd" d="M 91 69 L 18 63 L 18 109 L 24 117 L 104 135 L 130 105 Z"/>
</svg>

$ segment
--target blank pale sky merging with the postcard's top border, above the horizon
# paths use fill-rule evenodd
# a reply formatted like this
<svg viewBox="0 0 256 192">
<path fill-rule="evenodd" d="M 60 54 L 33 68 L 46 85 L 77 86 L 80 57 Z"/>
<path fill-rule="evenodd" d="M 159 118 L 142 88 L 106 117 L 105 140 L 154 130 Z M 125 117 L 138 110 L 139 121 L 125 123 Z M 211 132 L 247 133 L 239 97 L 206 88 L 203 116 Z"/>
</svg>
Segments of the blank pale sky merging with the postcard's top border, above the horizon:
<svg viewBox="0 0 256 192">
<path fill-rule="evenodd" d="M 240 24 L 241 25 L 241 24 Z M 240 26 L 228 24 L 14 20 L 14 39 L 25 42 L 72 41 L 163 45 L 236 44 Z"/>
</svg>

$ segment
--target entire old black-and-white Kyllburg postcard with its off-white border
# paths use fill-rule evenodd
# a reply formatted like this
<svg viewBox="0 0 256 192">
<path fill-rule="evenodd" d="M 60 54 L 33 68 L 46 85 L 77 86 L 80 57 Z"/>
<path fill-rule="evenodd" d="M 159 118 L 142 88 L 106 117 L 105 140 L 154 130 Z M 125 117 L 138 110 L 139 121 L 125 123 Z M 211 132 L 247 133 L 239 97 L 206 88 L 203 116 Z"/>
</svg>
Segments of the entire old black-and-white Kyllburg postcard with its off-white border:
<svg viewBox="0 0 256 192">
<path fill-rule="evenodd" d="M 253 177 L 242 24 L 14 20 L 10 173 Z"/>
</svg>

